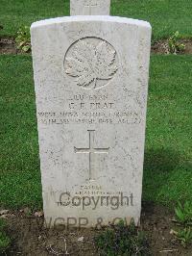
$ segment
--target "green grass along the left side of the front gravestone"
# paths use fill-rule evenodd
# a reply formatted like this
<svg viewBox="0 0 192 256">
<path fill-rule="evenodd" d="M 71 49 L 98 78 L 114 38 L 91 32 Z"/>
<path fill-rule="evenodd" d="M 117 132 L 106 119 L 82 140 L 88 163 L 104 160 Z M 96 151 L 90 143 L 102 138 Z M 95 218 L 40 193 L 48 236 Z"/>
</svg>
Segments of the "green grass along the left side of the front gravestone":
<svg viewBox="0 0 192 256">
<path fill-rule="evenodd" d="M 0 58 L 0 205 L 41 205 L 32 60 Z"/>
</svg>

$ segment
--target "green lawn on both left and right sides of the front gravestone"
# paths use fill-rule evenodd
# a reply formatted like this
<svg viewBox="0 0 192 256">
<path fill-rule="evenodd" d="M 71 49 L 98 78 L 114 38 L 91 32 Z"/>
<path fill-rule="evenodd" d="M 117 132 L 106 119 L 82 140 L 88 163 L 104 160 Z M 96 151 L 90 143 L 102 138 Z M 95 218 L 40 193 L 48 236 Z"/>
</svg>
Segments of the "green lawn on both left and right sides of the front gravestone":
<svg viewBox="0 0 192 256">
<path fill-rule="evenodd" d="M 153 56 L 143 199 L 169 205 L 192 194 L 192 56 Z M 31 56 L 0 58 L 0 205 L 42 204 Z"/>
</svg>

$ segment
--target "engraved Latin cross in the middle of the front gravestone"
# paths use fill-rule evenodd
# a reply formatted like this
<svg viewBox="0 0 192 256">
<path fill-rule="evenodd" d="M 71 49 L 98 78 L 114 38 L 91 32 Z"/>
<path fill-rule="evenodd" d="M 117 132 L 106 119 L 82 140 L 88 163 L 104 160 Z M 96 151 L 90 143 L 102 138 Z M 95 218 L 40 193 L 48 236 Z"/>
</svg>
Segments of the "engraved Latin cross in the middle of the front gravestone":
<svg viewBox="0 0 192 256">
<path fill-rule="evenodd" d="M 89 156 L 89 180 L 93 179 L 93 170 L 94 170 L 94 154 L 108 154 L 109 147 L 107 148 L 95 148 L 94 147 L 94 130 L 88 130 L 89 135 L 89 146 L 88 148 L 77 148 L 74 147 L 75 153 L 88 154 Z"/>
</svg>

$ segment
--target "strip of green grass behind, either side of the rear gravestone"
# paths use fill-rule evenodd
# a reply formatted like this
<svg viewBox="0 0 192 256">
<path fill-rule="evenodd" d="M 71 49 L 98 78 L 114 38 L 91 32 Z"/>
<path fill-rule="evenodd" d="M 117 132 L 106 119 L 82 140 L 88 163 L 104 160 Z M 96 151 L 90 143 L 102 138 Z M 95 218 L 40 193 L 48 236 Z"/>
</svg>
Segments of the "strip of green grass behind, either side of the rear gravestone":
<svg viewBox="0 0 192 256">
<path fill-rule="evenodd" d="M 32 22 L 69 15 L 69 0 L 1 0 L 0 36 L 15 36 L 19 27 Z M 111 14 L 151 22 L 154 40 L 169 38 L 177 30 L 192 38 L 192 1 L 190 0 L 111 0 Z"/>
</svg>

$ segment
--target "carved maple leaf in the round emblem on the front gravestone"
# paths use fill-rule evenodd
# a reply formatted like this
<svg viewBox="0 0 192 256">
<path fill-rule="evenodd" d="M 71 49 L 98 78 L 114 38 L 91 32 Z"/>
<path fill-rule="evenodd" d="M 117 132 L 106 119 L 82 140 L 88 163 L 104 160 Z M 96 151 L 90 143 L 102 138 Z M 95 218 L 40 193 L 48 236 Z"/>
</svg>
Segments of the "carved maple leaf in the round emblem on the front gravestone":
<svg viewBox="0 0 192 256">
<path fill-rule="evenodd" d="M 78 86 L 96 89 L 98 80 L 109 80 L 117 71 L 116 52 L 101 40 L 97 45 L 80 39 L 66 58 L 65 73 L 75 78 Z"/>
</svg>

